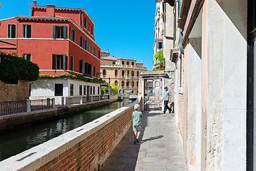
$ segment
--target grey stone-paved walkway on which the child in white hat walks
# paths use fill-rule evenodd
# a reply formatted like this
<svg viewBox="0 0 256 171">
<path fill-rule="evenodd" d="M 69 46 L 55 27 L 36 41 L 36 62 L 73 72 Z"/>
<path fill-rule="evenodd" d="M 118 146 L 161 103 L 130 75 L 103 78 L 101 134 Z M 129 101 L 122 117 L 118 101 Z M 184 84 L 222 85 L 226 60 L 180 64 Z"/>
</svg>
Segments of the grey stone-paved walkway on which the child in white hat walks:
<svg viewBox="0 0 256 171">
<path fill-rule="evenodd" d="M 140 143 L 130 128 L 101 170 L 187 170 L 173 113 L 143 113 Z"/>
</svg>

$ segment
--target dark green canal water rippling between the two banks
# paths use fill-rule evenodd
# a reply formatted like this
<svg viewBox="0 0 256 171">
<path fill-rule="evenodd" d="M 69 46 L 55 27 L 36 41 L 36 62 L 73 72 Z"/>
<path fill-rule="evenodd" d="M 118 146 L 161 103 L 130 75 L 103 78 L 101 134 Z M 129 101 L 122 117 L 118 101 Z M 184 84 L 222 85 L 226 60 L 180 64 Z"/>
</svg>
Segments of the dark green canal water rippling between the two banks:
<svg viewBox="0 0 256 171">
<path fill-rule="evenodd" d="M 129 103 L 131 102 L 125 98 L 123 101 L 117 101 L 94 110 L 77 113 L 76 115 L 67 116 L 58 120 L 50 120 L 46 123 L 0 135 L 0 161 L 24 152 L 52 138 L 56 138 L 58 135 L 96 120 Z"/>
</svg>

